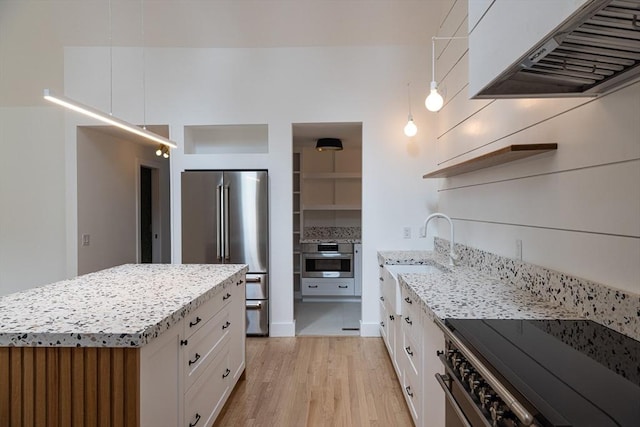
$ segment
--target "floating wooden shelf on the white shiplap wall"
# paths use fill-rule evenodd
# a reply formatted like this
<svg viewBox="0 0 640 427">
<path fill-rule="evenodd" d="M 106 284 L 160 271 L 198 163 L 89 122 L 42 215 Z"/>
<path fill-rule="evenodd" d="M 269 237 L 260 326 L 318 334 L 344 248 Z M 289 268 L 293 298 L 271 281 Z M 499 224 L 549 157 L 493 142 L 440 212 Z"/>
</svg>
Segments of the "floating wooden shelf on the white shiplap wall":
<svg viewBox="0 0 640 427">
<path fill-rule="evenodd" d="M 488 168 L 491 166 L 501 165 L 503 163 L 512 162 L 514 160 L 523 159 L 525 157 L 535 156 L 558 149 L 558 144 L 518 144 L 509 145 L 491 153 L 483 154 L 466 162 L 457 165 L 447 166 L 446 168 L 437 169 L 423 178 L 446 178 L 449 176 L 460 175 L 472 172 L 478 169 Z"/>
</svg>

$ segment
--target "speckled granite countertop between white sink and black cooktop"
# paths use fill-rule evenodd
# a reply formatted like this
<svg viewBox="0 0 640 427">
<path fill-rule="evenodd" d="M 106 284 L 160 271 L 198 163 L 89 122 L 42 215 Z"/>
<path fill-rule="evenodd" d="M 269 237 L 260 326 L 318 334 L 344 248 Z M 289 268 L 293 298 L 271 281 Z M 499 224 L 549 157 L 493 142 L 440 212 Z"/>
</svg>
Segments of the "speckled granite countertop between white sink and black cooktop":
<svg viewBox="0 0 640 427">
<path fill-rule="evenodd" d="M 431 251 L 381 251 L 382 264 L 440 264 L 451 272 L 399 274 L 401 286 L 421 301 L 427 316 L 455 319 L 579 319 L 568 308 L 464 266 L 448 266 L 446 255 Z"/>
</svg>

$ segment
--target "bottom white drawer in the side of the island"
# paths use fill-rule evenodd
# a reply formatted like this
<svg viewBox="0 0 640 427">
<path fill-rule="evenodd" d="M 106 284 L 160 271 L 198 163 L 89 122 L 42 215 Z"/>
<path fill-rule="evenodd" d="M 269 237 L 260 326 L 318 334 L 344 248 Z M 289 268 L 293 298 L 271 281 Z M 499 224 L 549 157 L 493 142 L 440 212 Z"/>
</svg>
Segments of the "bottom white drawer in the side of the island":
<svg viewBox="0 0 640 427">
<path fill-rule="evenodd" d="M 216 355 L 184 395 L 184 425 L 208 427 L 220 412 L 231 384 L 228 348 Z"/>
</svg>

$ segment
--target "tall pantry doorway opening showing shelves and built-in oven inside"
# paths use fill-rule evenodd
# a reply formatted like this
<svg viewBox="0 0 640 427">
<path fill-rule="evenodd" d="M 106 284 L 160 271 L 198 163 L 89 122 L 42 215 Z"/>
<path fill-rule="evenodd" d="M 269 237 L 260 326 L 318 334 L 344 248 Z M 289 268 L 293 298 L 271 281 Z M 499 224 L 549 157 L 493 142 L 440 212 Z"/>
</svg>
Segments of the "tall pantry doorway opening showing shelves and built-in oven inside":
<svg viewBox="0 0 640 427">
<path fill-rule="evenodd" d="M 296 335 L 360 335 L 362 123 L 296 123 L 292 136 Z M 317 150 L 323 138 L 342 149 Z M 337 269 L 322 253 L 334 246 Z"/>
</svg>

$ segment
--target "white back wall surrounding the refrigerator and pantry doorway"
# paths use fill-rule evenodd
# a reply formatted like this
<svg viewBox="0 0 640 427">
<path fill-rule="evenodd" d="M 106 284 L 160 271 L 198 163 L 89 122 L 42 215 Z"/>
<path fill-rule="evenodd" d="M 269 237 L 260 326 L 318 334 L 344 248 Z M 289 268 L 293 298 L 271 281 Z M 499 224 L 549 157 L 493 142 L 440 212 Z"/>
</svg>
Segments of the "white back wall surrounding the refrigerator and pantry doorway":
<svg viewBox="0 0 640 427">
<path fill-rule="evenodd" d="M 113 99 L 141 98 L 142 75 L 136 48 L 116 48 Z M 147 120 L 168 123 L 178 142 L 173 150 L 173 261 L 180 262 L 180 172 L 184 169 L 268 169 L 270 178 L 271 331 L 292 335 L 292 123 L 363 123 L 363 333 L 378 333 L 376 251 L 423 247 L 417 228 L 435 205 L 428 168 L 431 116 L 413 94 L 419 137 L 402 134 L 406 122 L 406 81 L 421 80 L 427 64 L 418 46 L 312 47 L 271 49 L 146 49 Z M 108 86 L 100 79 L 104 48 L 65 49 L 65 92 L 100 106 Z M 94 69 L 95 68 L 95 69 Z M 108 79 L 107 79 L 108 81 Z M 418 92 L 417 88 L 415 91 Z M 417 104 L 417 105 L 415 105 Z M 117 107 L 116 107 L 117 105 Z M 104 107 L 103 107 L 104 108 Z M 141 120 L 136 103 L 114 102 L 114 114 Z M 184 154 L 185 125 L 266 123 L 269 152 Z M 431 126 L 429 126 L 431 124 Z M 70 126 L 75 126 L 71 122 Z M 75 141 L 67 141 L 74 146 Z M 431 196 L 425 196 L 430 194 Z M 396 208 L 395 206 L 398 206 Z M 414 227 L 410 240 L 402 226 Z M 77 242 L 76 239 L 71 239 Z"/>
</svg>

